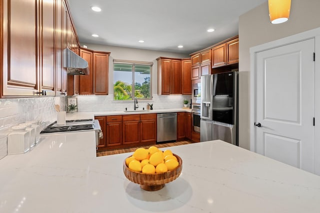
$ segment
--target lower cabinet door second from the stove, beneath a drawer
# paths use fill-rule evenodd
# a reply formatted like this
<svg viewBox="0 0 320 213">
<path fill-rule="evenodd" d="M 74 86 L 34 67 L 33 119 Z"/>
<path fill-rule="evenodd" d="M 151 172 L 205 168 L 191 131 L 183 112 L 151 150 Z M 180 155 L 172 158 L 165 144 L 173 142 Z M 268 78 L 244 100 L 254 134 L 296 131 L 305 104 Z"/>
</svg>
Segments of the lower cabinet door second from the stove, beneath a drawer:
<svg viewBox="0 0 320 213">
<path fill-rule="evenodd" d="M 122 122 L 106 123 L 106 146 L 118 146 L 122 144 Z"/>
</svg>

